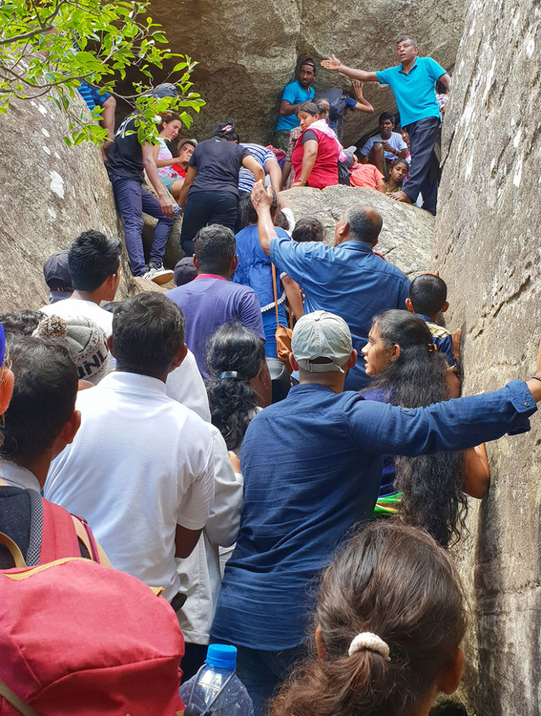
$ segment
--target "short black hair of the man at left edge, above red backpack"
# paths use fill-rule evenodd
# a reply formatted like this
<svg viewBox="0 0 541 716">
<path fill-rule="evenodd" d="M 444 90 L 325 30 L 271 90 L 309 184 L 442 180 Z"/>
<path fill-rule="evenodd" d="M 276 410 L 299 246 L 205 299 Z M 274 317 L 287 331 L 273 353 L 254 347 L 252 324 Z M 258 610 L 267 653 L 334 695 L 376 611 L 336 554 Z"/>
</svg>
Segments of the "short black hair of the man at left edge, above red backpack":
<svg viewBox="0 0 541 716">
<path fill-rule="evenodd" d="M 5 413 L 4 458 L 38 458 L 60 435 L 75 408 L 77 367 L 66 342 L 34 336 L 9 340 L 15 376 Z"/>
</svg>

